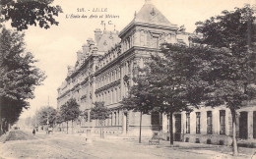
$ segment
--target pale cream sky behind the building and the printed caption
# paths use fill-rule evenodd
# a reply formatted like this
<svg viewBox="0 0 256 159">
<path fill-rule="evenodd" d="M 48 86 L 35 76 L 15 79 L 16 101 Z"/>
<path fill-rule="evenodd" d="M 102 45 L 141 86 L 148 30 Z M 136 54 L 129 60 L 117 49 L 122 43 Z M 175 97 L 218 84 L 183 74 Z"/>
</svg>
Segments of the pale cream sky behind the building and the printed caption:
<svg viewBox="0 0 256 159">
<path fill-rule="evenodd" d="M 57 18 L 58 27 L 42 29 L 29 27 L 26 30 L 26 43 L 39 62 L 38 68 L 45 72 L 47 79 L 43 85 L 36 87 L 35 98 L 30 100 L 31 108 L 22 114 L 22 118 L 32 116 L 33 112 L 49 104 L 57 107 L 57 87 L 66 78 L 67 66 L 74 66 L 76 52 L 82 49 L 89 37 L 94 37 L 95 28 L 103 29 L 101 21 L 111 21 L 117 30 L 127 26 L 133 19 L 135 11 L 139 12 L 145 0 L 55 0 L 64 13 Z M 152 3 L 169 20 L 178 27 L 184 25 L 186 31 L 193 32 L 195 23 L 204 21 L 212 16 L 220 15 L 224 10 L 234 10 L 245 3 L 256 4 L 256 0 L 152 0 Z M 85 13 L 77 12 L 84 8 Z M 107 13 L 93 13 L 94 8 L 107 8 Z M 90 11 L 88 11 L 90 10 Z M 68 15 L 97 16 L 110 14 L 119 16 L 118 19 L 67 19 Z M 106 25 L 107 30 L 112 30 L 113 25 Z"/>
</svg>

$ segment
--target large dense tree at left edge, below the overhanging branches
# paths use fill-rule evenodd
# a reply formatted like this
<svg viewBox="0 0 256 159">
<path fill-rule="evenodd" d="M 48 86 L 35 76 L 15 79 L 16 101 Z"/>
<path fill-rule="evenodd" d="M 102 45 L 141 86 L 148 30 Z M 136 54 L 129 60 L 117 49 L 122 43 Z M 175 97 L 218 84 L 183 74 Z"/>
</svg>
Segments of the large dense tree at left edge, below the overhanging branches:
<svg viewBox="0 0 256 159">
<path fill-rule="evenodd" d="M 45 79 L 44 73 L 33 64 L 32 53 L 25 52 L 24 34 L 6 29 L 0 35 L 0 132 L 3 124 L 14 124 L 28 99 L 34 97 L 34 87 Z M 5 121 L 3 123 L 3 120 Z"/>
</svg>

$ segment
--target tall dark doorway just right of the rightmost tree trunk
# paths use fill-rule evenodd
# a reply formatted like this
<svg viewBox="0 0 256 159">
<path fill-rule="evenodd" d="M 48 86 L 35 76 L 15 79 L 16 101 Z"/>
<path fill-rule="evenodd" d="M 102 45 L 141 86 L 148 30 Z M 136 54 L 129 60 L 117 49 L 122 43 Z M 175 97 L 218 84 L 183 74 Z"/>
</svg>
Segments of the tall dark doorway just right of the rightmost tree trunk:
<svg viewBox="0 0 256 159">
<path fill-rule="evenodd" d="M 248 138 L 248 112 L 240 112 L 239 137 L 243 139 Z"/>
</svg>

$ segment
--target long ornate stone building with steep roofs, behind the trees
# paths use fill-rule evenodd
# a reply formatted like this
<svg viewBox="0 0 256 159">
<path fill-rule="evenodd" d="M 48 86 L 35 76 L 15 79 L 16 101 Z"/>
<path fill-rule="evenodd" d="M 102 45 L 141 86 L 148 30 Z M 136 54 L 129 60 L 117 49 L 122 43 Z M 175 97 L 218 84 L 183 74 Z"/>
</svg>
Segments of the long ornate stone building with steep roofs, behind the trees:
<svg viewBox="0 0 256 159">
<path fill-rule="evenodd" d="M 188 45 L 188 35 L 169 23 L 150 0 L 146 0 L 132 22 L 120 32 L 96 28 L 95 39 L 89 38 L 83 49 L 77 52 L 75 67 L 68 67 L 67 78 L 58 88 L 58 108 L 68 99 L 75 98 L 81 110 L 88 112 L 87 119 L 77 122 L 77 131 L 99 132 L 98 121 L 90 119 L 90 110 L 93 103 L 103 101 L 111 110 L 110 118 L 104 122 L 105 133 L 138 135 L 139 113 L 120 109 L 120 101 L 134 84 L 135 70 L 144 66 L 151 53 L 160 52 L 160 43 Z M 247 126 L 247 134 L 243 137 L 256 137 L 255 112 L 255 107 L 250 106 L 248 113 L 240 113 L 240 118 L 247 119 L 240 126 L 240 130 L 245 129 L 245 124 Z M 226 136 L 231 134 L 231 118 L 224 107 L 201 108 L 190 114 L 176 113 L 172 118 L 175 140 L 211 140 L 213 143 L 224 140 L 224 144 L 230 144 L 230 137 Z M 166 115 L 144 115 L 142 125 L 144 135 L 159 132 L 163 138 L 169 137 Z"/>
</svg>

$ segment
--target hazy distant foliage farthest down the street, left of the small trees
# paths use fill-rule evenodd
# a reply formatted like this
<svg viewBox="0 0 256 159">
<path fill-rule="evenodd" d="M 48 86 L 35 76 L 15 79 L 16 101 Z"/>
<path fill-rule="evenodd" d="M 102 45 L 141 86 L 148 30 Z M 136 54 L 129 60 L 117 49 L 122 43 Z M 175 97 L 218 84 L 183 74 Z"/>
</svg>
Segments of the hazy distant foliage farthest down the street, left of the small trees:
<svg viewBox="0 0 256 159">
<path fill-rule="evenodd" d="M 47 121 L 49 125 L 53 125 L 56 120 L 57 111 L 50 107 L 42 107 L 38 112 L 36 112 L 36 120 L 40 126 L 47 125 Z"/>
</svg>

